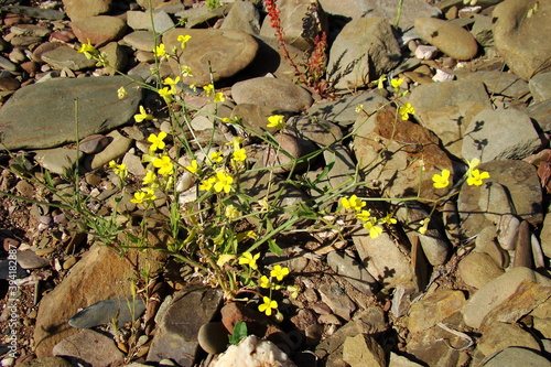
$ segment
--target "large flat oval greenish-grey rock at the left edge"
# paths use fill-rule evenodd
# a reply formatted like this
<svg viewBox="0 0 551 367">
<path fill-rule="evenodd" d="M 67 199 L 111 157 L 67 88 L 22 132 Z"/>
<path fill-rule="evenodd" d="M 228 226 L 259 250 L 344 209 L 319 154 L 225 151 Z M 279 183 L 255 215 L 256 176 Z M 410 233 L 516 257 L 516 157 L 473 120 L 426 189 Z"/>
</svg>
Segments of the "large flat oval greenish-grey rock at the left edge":
<svg viewBox="0 0 551 367">
<path fill-rule="evenodd" d="M 127 123 L 138 110 L 142 90 L 122 76 L 54 79 L 19 89 L 0 108 L 8 149 L 42 149 L 80 140 Z M 117 98 L 126 86 L 128 95 Z M 78 137 L 75 122 L 78 101 Z"/>
</svg>

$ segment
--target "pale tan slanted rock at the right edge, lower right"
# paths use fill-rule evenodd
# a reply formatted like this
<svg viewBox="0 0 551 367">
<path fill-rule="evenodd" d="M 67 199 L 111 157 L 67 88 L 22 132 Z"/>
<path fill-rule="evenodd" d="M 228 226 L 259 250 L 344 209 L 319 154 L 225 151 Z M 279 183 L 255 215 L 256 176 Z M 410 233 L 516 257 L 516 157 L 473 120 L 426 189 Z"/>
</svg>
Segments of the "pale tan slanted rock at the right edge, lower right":
<svg viewBox="0 0 551 367">
<path fill-rule="evenodd" d="M 549 296 L 551 280 L 528 268 L 512 268 L 483 285 L 463 307 L 463 320 L 471 327 L 491 321 L 516 322 Z"/>
</svg>

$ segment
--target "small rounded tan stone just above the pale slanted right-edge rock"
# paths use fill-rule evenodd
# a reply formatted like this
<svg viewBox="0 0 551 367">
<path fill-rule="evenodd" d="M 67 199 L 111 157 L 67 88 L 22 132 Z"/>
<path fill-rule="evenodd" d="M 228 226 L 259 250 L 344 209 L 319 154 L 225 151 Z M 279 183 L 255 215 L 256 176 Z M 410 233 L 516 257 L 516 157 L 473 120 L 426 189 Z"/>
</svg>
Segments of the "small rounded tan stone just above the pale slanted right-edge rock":
<svg viewBox="0 0 551 367">
<path fill-rule="evenodd" d="M 457 270 L 467 285 L 477 289 L 504 273 L 489 255 L 476 251 L 464 257 Z"/>
</svg>

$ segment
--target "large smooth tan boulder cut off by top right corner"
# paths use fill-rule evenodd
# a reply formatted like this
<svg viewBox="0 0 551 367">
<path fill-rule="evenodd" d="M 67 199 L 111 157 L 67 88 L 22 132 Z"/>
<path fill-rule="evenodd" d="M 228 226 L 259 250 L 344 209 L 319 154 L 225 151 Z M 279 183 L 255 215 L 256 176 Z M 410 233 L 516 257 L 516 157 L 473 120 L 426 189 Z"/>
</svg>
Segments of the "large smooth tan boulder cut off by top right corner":
<svg viewBox="0 0 551 367">
<path fill-rule="evenodd" d="M 496 48 L 507 66 L 525 80 L 551 69 L 551 44 L 545 36 L 551 33 L 547 18 L 551 2 L 540 1 L 538 11 L 528 18 L 533 6 L 533 2 L 506 0 L 491 13 Z"/>
</svg>

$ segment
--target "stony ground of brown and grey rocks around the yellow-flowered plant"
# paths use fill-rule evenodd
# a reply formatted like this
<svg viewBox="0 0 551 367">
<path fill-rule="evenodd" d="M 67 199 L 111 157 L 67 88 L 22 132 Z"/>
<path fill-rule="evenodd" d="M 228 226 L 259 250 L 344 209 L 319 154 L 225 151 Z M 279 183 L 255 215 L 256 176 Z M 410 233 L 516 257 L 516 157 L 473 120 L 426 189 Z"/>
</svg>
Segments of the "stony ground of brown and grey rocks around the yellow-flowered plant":
<svg viewBox="0 0 551 367">
<path fill-rule="evenodd" d="M 276 168 L 270 180 L 290 212 L 314 203 L 334 226 L 302 223 L 277 238 L 281 257 L 262 251 L 260 265 L 288 267 L 287 284 L 300 289 L 296 299 L 290 292 L 279 299 L 281 323 L 257 311 L 258 299 L 225 302 L 219 290 L 206 287 L 209 279 L 158 251 L 120 257 L 99 246 L 69 211 L 44 205 L 61 198 L 30 179 L 52 172 L 56 192 L 75 197 L 78 191 L 99 217 L 111 215 L 116 203 L 130 222 L 143 215 L 130 198 L 145 174 L 147 138 L 171 132 L 165 105 L 76 50 L 89 40 L 118 71 L 151 83 L 148 1 L 4 1 L 0 131 L 10 153 L 0 154 L 2 365 L 259 366 L 260 350 L 282 366 L 549 365 L 551 1 L 479 0 L 467 7 L 406 0 L 398 26 L 391 25 L 398 1 L 324 0 L 321 8 L 279 1 L 288 48 L 299 64 L 315 35 L 328 34 L 326 78 L 334 89 L 325 90 L 323 84 L 306 89 L 293 83 L 261 4 L 224 2 L 208 10 L 203 2 L 151 2 L 168 50 L 179 46 L 177 35 L 192 35 L 181 62 L 194 75 L 177 90 L 188 106 L 206 111 L 192 120 L 198 142 L 223 149 L 239 133 L 220 123 L 213 130 L 208 114 L 215 110 L 242 118 L 258 133 L 269 116 L 283 115 L 284 133 L 269 132 L 285 151 L 296 159 L 325 151 L 292 176 Z M 183 19 L 185 26 L 171 29 Z M 160 74 L 174 76 L 174 67 L 161 64 Z M 224 102 L 188 88 L 212 77 Z M 128 94 L 118 99 L 122 85 Z M 407 104 L 413 110 L 403 116 Z M 139 106 L 154 119 L 134 122 Z M 274 159 L 261 141 L 245 141 L 250 168 L 287 158 Z M 187 156 L 172 158 L 190 164 Z M 473 159 L 490 176 L 479 186 L 461 180 Z M 130 171 L 122 190 L 111 160 Z M 67 180 L 75 165 L 76 185 Z M 426 201 L 369 202 L 371 213 L 390 212 L 398 220 L 378 237 L 350 224 L 349 213 L 332 212 L 339 196 L 352 194 L 396 198 L 419 192 L 437 199 L 449 193 L 431 180 L 442 170 L 452 172 L 460 192 L 424 228 Z M 262 172 L 249 177 L 255 184 L 242 185 L 251 196 L 263 197 L 269 179 Z M 360 184 L 350 185 L 355 177 Z M 315 190 L 290 185 L 291 179 L 315 182 Z M 190 188 L 183 196 L 195 195 Z M 155 202 L 161 212 L 166 201 Z M 241 226 L 255 228 L 245 220 Z M 166 237 L 151 226 L 148 242 Z M 129 295 L 131 284 L 137 298 Z M 141 315 L 133 324 L 129 309 Z M 272 343 L 248 338 L 241 349 L 226 350 L 238 321 Z M 244 348 L 257 349 L 258 359 L 237 363 Z"/>
</svg>

